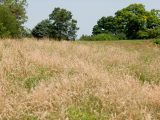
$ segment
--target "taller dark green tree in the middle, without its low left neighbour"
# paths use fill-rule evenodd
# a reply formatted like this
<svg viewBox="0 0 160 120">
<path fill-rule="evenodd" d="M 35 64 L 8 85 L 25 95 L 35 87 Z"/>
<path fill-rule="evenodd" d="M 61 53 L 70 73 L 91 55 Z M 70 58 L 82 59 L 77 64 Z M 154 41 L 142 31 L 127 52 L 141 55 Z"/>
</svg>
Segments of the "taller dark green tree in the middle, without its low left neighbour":
<svg viewBox="0 0 160 120">
<path fill-rule="evenodd" d="M 74 40 L 77 27 L 77 21 L 72 18 L 72 13 L 65 9 L 55 8 L 49 15 L 51 21 L 50 37 L 58 40 Z"/>
</svg>

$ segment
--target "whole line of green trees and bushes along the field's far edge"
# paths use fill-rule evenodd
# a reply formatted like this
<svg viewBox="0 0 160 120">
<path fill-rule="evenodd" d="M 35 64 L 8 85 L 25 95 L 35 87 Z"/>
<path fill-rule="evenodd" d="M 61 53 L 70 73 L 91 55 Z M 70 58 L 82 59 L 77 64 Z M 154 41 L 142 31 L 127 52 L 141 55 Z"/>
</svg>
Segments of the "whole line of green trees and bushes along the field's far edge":
<svg viewBox="0 0 160 120">
<path fill-rule="evenodd" d="M 0 38 L 35 37 L 55 40 L 75 40 L 77 21 L 70 11 L 55 8 L 49 17 L 32 30 L 27 21 L 26 0 L 0 0 Z M 151 39 L 160 37 L 160 10 L 147 11 L 143 4 L 131 4 L 114 16 L 102 17 L 93 27 L 92 35 L 81 40 Z"/>
</svg>

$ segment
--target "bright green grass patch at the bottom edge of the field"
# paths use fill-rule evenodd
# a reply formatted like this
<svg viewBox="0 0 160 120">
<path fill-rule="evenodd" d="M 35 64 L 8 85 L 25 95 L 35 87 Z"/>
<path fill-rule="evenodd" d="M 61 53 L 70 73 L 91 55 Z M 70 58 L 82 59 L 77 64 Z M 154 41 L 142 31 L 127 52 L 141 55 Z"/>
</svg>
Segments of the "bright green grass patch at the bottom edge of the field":
<svg viewBox="0 0 160 120">
<path fill-rule="evenodd" d="M 71 105 L 67 116 L 70 120 L 108 120 L 101 100 L 95 96 L 89 96 L 79 105 Z"/>
</svg>

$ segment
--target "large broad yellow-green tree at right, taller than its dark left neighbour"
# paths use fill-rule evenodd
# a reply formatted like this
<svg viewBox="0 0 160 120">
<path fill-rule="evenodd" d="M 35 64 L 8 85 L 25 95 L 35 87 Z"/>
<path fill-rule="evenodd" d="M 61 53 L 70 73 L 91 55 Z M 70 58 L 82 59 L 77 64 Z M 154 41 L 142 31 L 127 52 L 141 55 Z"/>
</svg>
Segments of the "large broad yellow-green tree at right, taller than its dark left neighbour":
<svg viewBox="0 0 160 120">
<path fill-rule="evenodd" d="M 160 33 L 160 20 L 142 4 L 132 4 L 116 12 L 116 19 L 129 39 L 155 38 Z"/>
</svg>

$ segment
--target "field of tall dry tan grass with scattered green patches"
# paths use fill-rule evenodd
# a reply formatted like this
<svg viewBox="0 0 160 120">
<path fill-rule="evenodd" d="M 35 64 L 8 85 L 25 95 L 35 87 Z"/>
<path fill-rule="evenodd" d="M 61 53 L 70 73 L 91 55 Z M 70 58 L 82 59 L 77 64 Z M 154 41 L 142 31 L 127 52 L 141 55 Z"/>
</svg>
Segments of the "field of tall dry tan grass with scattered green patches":
<svg viewBox="0 0 160 120">
<path fill-rule="evenodd" d="M 0 120 L 160 120 L 151 41 L 0 41 Z"/>
</svg>

